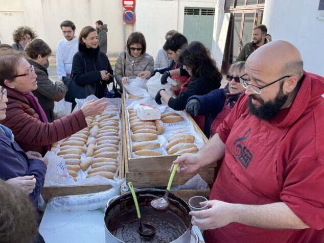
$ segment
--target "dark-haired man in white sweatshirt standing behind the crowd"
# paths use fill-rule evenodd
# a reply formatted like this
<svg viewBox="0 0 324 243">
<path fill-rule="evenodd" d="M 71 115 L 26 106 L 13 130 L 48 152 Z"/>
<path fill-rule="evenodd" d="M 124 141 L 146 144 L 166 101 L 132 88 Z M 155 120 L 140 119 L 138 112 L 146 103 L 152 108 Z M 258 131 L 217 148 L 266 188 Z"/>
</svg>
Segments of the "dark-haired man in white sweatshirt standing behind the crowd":
<svg viewBox="0 0 324 243">
<path fill-rule="evenodd" d="M 56 68 L 60 80 L 71 76 L 73 56 L 79 51 L 78 37 L 75 36 L 75 25 L 65 20 L 60 25 L 64 39 L 60 40 L 56 49 Z"/>
</svg>

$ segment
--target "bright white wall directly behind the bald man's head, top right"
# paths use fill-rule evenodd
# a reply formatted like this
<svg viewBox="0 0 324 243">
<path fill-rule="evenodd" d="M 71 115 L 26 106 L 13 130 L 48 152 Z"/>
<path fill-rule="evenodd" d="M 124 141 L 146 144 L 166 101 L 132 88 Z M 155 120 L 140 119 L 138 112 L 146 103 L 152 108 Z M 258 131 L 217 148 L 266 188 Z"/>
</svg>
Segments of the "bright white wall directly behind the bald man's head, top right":
<svg viewBox="0 0 324 243">
<path fill-rule="evenodd" d="M 324 20 L 318 20 L 319 0 L 266 0 L 263 23 L 272 40 L 286 40 L 302 54 L 304 70 L 324 76 Z"/>
</svg>

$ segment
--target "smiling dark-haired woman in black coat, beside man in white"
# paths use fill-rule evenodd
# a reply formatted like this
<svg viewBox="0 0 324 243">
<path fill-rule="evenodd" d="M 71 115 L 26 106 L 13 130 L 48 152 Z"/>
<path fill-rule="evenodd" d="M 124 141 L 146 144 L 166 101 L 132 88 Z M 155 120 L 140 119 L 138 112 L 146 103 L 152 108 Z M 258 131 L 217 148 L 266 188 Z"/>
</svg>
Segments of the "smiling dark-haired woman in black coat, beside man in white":
<svg viewBox="0 0 324 243">
<path fill-rule="evenodd" d="M 74 55 L 72 63 L 72 82 L 77 84 L 73 85 L 74 98 L 84 99 L 90 94 L 98 98 L 107 96 L 107 84 L 113 82 L 113 71 L 98 44 L 96 29 L 84 27 L 79 36 L 79 52 Z"/>
</svg>

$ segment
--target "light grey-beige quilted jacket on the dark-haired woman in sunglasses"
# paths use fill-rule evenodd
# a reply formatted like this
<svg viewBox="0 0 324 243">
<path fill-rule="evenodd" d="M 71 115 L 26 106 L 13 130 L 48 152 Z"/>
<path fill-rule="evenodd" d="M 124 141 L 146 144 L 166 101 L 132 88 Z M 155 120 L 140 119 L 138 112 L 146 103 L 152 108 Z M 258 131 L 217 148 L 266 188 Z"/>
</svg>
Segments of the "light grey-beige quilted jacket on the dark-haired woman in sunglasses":
<svg viewBox="0 0 324 243">
<path fill-rule="evenodd" d="M 124 65 L 125 60 L 125 54 L 126 54 L 126 61 Z M 124 73 L 124 66 L 126 67 Z M 154 59 L 151 55 L 145 53 L 145 55 L 140 55 L 138 57 L 132 57 L 128 54 L 127 51 L 121 52 L 118 55 L 116 64 L 115 64 L 115 70 L 114 70 L 114 77 L 117 81 L 117 83 L 122 87 L 122 78 L 123 77 L 130 77 L 136 78 L 137 75 L 142 71 L 153 71 L 154 70 Z"/>
</svg>

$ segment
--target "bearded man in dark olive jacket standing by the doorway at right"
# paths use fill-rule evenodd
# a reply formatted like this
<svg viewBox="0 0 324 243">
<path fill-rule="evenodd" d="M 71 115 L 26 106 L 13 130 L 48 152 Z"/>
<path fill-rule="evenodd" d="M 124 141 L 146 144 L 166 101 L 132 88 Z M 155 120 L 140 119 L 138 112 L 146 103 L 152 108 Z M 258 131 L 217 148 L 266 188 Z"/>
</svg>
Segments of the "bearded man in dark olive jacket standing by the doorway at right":
<svg viewBox="0 0 324 243">
<path fill-rule="evenodd" d="M 244 45 L 236 59 L 236 62 L 246 61 L 252 52 L 256 51 L 260 46 L 268 43 L 269 41 L 266 38 L 267 31 L 268 29 L 265 25 L 254 27 L 252 40 Z"/>
</svg>

